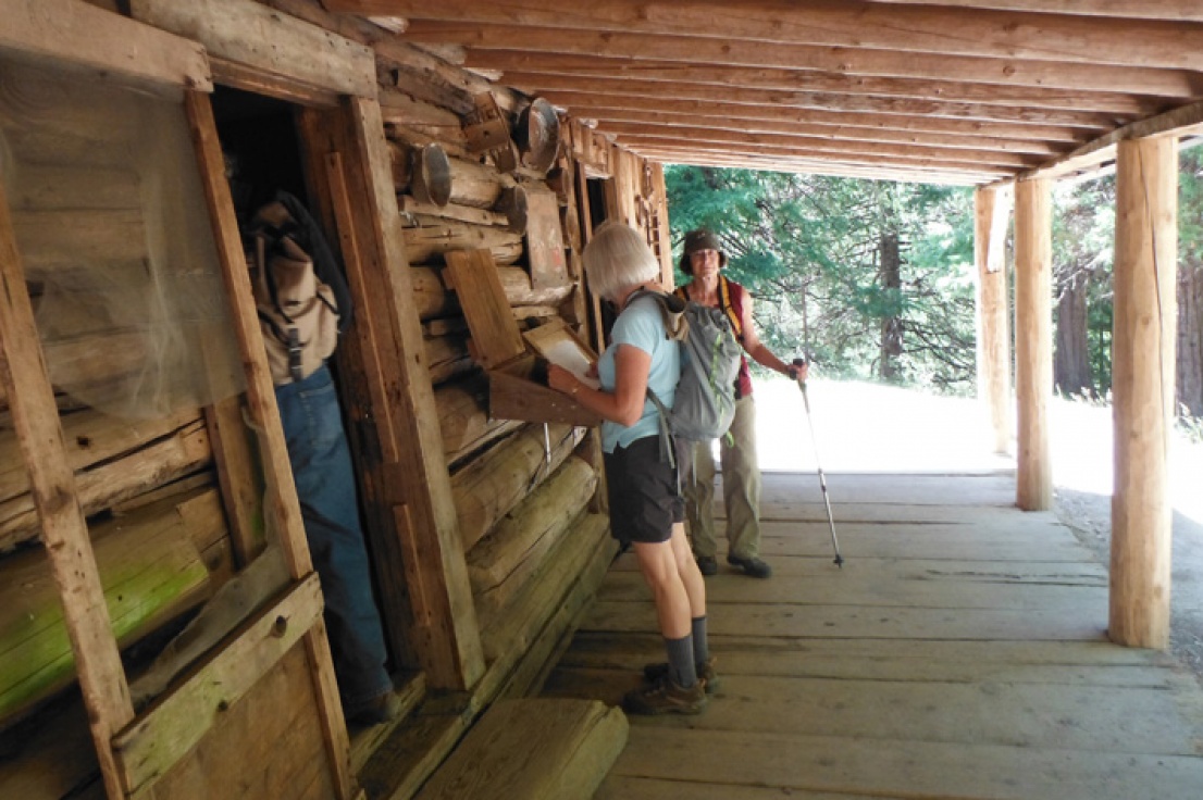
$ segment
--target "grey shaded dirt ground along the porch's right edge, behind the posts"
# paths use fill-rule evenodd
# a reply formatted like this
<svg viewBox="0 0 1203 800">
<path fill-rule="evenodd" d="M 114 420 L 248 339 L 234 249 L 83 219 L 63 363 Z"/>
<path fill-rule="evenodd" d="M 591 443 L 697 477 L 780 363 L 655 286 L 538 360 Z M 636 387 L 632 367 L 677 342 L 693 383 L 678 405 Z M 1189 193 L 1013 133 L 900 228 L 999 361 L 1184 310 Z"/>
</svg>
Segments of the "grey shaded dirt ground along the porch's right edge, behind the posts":
<svg viewBox="0 0 1203 800">
<path fill-rule="evenodd" d="M 1069 488 L 1054 493 L 1054 512 L 1100 563 L 1110 559 L 1112 498 Z M 1175 512 L 1173 574 L 1169 594 L 1169 648 L 1203 683 L 1203 575 L 1193 568 L 1203 558 L 1203 526 Z"/>
</svg>

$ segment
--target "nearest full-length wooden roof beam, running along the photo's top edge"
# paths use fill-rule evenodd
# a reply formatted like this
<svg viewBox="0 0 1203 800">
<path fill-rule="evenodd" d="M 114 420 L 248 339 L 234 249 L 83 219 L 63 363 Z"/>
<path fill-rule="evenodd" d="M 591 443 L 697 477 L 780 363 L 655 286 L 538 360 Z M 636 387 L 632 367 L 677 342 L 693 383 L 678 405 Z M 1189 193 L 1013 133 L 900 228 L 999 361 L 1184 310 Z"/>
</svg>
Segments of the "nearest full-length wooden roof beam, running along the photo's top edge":
<svg viewBox="0 0 1203 800">
<path fill-rule="evenodd" d="M 855 0 L 322 0 L 331 11 L 583 30 L 1203 70 L 1203 24 Z"/>
</svg>

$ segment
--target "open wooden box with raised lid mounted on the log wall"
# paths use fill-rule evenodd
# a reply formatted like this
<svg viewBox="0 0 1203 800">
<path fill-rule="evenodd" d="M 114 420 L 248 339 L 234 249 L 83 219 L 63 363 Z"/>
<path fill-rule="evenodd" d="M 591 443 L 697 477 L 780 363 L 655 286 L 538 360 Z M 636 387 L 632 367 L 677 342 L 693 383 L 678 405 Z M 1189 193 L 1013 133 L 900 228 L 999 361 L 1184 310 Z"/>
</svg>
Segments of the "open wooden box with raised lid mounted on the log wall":
<svg viewBox="0 0 1203 800">
<path fill-rule="evenodd" d="M 460 298 L 472 331 L 473 357 L 488 375 L 488 415 L 497 420 L 599 425 L 597 414 L 546 385 L 545 362 L 522 338 L 490 251 L 456 250 L 446 254 L 446 262 L 444 282 Z M 567 326 L 553 328 L 557 337 L 569 338 L 588 357 L 597 358 Z"/>
</svg>

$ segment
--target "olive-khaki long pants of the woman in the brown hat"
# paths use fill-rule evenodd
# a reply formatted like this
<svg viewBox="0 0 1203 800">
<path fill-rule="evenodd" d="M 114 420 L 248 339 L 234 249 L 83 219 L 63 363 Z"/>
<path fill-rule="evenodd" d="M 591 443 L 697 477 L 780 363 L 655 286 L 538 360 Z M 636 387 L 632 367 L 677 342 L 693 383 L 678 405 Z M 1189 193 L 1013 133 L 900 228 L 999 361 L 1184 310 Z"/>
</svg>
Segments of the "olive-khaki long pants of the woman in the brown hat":
<svg viewBox="0 0 1203 800">
<path fill-rule="evenodd" d="M 755 403 L 735 402 L 730 435 L 719 439 L 723 466 L 723 504 L 727 506 L 727 552 L 739 558 L 760 555 L 760 467 L 755 455 Z M 693 476 L 685 480 L 686 517 L 694 556 L 713 557 L 715 458 L 710 442 L 693 448 Z"/>
</svg>

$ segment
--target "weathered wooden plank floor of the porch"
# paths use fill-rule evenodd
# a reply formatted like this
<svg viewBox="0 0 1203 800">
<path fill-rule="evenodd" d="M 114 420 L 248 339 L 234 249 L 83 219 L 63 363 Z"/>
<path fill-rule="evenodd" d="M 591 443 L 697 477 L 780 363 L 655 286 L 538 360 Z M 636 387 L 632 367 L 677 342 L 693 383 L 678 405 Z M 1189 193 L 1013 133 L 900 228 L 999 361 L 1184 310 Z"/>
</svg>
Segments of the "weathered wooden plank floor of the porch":
<svg viewBox="0 0 1203 800">
<path fill-rule="evenodd" d="M 772 579 L 706 580 L 719 691 L 632 717 L 597 800 L 1203 798 L 1203 688 L 1107 641 L 1106 570 L 1011 475 L 828 486 L 843 568 L 816 476 L 765 475 Z M 628 553 L 544 694 L 617 704 L 660 659 Z"/>
</svg>

